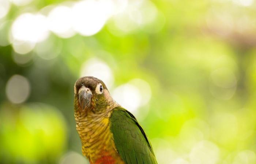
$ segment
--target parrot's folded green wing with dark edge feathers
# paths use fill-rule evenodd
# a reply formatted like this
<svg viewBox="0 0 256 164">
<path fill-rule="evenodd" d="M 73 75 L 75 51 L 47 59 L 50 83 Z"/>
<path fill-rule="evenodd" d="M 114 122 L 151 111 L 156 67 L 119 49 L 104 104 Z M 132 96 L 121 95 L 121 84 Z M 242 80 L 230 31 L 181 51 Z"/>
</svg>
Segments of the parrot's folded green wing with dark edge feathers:
<svg viewBox="0 0 256 164">
<path fill-rule="evenodd" d="M 110 130 L 117 151 L 126 164 L 157 164 L 144 130 L 130 112 L 121 107 L 114 108 Z"/>
</svg>

